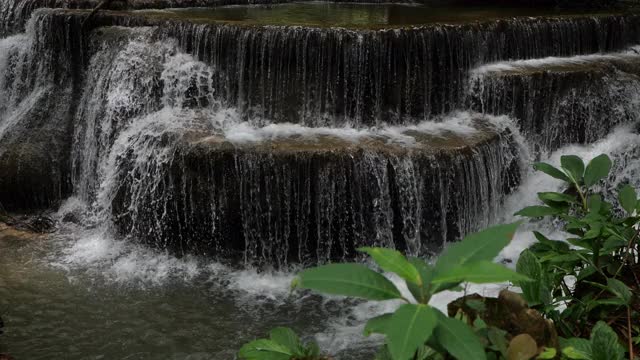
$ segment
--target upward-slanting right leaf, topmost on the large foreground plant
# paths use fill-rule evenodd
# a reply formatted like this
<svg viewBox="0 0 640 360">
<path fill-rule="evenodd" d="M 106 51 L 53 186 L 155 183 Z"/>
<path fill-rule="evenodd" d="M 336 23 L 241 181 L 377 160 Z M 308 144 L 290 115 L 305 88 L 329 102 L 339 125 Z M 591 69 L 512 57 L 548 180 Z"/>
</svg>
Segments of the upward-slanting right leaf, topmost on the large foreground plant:
<svg viewBox="0 0 640 360">
<path fill-rule="evenodd" d="M 511 242 L 520 222 L 490 227 L 468 235 L 459 243 L 445 249 L 438 257 L 434 272 L 443 273 L 450 268 L 478 261 L 491 261 Z M 436 275 L 437 276 L 437 275 Z"/>
</svg>

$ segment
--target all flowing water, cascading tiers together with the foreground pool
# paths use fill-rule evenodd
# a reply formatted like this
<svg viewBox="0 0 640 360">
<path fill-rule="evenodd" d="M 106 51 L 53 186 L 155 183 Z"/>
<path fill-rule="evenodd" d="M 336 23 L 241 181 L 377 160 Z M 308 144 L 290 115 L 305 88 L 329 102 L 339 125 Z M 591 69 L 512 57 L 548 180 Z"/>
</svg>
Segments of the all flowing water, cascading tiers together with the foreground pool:
<svg viewBox="0 0 640 360">
<path fill-rule="evenodd" d="M 254 26 L 407 24 L 419 11 L 163 10 L 93 29 L 38 10 L 0 39 L 0 199 L 58 221 L 44 239 L 0 240 L 0 352 L 233 359 L 287 325 L 369 359 L 380 339 L 362 337 L 364 322 L 399 304 L 291 294 L 298 269 L 360 245 L 430 257 L 512 221 L 560 185 L 530 171 L 535 159 L 607 153 L 612 189 L 640 185 L 634 15 Z M 252 26 L 217 24 L 234 19 Z M 527 224 L 497 260 L 513 264 L 531 228 L 563 236 Z"/>
</svg>

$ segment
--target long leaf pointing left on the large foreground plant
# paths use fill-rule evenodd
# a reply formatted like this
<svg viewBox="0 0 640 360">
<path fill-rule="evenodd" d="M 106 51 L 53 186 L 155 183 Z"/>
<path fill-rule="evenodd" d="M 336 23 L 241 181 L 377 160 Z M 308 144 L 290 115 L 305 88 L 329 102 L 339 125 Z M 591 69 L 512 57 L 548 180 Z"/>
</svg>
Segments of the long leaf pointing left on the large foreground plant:
<svg viewBox="0 0 640 360">
<path fill-rule="evenodd" d="M 360 264 L 329 264 L 302 271 L 298 286 L 327 294 L 369 300 L 401 298 L 398 288 L 382 274 Z"/>
</svg>

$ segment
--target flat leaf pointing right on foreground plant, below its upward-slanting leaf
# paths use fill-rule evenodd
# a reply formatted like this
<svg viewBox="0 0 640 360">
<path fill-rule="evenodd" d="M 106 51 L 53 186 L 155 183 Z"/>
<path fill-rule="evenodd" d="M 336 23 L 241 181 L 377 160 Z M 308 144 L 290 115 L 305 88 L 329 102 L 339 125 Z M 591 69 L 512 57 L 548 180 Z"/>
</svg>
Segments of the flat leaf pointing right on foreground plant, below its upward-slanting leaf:
<svg viewBox="0 0 640 360">
<path fill-rule="evenodd" d="M 504 265 L 496 264 L 491 261 L 477 261 L 439 272 L 432 280 L 434 284 L 455 282 L 487 284 L 505 281 L 525 282 L 531 281 L 531 279 L 518 274 Z"/>
</svg>

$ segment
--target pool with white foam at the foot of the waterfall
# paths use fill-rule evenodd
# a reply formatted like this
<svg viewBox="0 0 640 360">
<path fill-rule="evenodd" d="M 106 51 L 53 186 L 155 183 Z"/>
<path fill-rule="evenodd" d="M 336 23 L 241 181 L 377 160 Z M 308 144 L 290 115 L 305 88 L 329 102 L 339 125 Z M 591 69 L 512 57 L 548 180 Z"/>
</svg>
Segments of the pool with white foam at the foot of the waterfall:
<svg viewBox="0 0 640 360">
<path fill-rule="evenodd" d="M 90 235 L 0 235 L 0 264 L 0 353 L 18 360 L 233 359 L 278 325 L 337 354 L 340 336 L 360 338 L 348 304 L 290 296 L 288 273 L 233 271 Z M 363 358 L 371 345 L 362 346 L 347 357 Z"/>
</svg>

